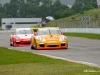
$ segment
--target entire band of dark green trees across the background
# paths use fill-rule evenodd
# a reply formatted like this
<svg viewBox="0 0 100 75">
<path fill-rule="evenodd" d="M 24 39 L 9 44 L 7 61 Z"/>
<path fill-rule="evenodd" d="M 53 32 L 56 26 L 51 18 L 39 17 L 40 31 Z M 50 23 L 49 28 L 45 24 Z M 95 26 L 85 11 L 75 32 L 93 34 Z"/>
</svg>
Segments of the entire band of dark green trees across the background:
<svg viewBox="0 0 100 75">
<path fill-rule="evenodd" d="M 98 8 L 97 0 L 75 0 L 69 8 L 60 0 L 10 0 L 10 3 L 0 5 L 2 18 L 35 18 L 53 16 L 55 19 L 68 17 L 83 11 Z"/>
</svg>

